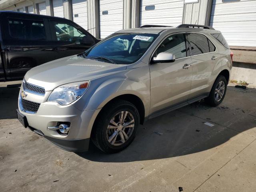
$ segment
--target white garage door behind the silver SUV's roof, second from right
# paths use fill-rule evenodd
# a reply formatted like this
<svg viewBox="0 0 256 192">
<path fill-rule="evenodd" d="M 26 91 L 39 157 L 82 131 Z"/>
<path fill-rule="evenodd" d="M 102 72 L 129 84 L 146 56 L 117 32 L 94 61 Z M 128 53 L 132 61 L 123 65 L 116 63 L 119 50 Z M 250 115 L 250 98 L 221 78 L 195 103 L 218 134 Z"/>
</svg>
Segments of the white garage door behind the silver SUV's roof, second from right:
<svg viewBox="0 0 256 192">
<path fill-rule="evenodd" d="M 140 26 L 182 24 L 184 0 L 141 0 Z"/>
</svg>

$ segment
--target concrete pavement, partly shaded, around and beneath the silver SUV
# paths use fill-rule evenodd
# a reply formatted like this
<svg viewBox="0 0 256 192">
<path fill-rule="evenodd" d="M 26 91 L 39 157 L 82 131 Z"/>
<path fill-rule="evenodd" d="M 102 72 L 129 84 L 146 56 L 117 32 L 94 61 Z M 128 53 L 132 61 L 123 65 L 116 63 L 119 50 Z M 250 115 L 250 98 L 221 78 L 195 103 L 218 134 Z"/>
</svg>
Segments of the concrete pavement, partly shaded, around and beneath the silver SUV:
<svg viewBox="0 0 256 192">
<path fill-rule="evenodd" d="M 228 86 L 216 108 L 202 101 L 154 118 L 126 150 L 111 155 L 93 146 L 66 152 L 23 128 L 15 114 L 18 92 L 0 84 L 1 192 L 256 189 L 255 88 Z"/>
</svg>

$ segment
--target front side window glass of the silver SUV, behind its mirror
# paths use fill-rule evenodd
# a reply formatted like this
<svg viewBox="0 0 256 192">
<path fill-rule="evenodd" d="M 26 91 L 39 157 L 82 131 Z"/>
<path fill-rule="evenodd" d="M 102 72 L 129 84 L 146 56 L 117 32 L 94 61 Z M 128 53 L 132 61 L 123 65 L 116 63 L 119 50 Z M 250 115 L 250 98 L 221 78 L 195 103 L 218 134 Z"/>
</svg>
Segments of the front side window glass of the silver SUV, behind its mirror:
<svg viewBox="0 0 256 192">
<path fill-rule="evenodd" d="M 168 36 L 156 49 L 155 56 L 161 52 L 168 52 L 175 55 L 175 58 L 187 56 L 185 34 L 173 34 Z"/>
</svg>

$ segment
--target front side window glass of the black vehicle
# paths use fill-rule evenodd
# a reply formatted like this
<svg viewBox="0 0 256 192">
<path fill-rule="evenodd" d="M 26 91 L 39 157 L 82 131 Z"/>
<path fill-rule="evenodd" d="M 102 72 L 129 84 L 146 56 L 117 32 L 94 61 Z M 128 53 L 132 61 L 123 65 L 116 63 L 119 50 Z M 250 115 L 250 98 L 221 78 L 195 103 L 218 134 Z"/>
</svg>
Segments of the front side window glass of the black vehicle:
<svg viewBox="0 0 256 192">
<path fill-rule="evenodd" d="M 54 30 L 57 41 L 68 41 L 76 44 L 82 43 L 82 39 L 86 34 L 80 32 L 74 26 L 66 23 L 54 23 Z"/>
</svg>

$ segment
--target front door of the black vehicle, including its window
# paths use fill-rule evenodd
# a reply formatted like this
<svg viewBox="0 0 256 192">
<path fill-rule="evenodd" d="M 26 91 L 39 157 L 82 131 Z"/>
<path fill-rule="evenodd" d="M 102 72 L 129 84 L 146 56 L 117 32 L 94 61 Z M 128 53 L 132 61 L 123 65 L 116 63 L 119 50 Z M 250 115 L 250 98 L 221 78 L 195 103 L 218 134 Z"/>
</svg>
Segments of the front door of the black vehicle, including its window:
<svg viewBox="0 0 256 192">
<path fill-rule="evenodd" d="M 56 45 L 56 58 L 79 54 L 96 44 L 86 30 L 66 20 L 50 20 L 52 39 Z"/>
</svg>

